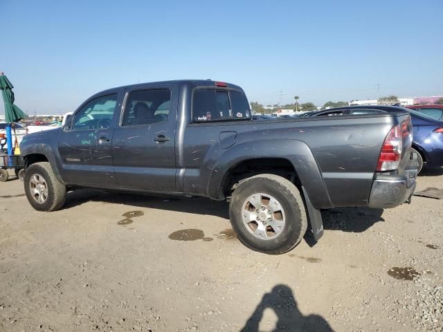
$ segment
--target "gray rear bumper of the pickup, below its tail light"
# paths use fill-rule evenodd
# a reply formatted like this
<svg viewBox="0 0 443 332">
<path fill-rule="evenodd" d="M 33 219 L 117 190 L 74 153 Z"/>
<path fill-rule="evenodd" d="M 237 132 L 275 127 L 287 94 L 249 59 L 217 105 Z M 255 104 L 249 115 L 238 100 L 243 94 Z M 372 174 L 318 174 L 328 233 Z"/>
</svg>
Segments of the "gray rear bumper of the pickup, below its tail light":
<svg viewBox="0 0 443 332">
<path fill-rule="evenodd" d="M 377 174 L 369 196 L 368 206 L 376 209 L 395 208 L 409 201 L 414 194 L 417 169 L 408 169 L 404 175 Z"/>
</svg>

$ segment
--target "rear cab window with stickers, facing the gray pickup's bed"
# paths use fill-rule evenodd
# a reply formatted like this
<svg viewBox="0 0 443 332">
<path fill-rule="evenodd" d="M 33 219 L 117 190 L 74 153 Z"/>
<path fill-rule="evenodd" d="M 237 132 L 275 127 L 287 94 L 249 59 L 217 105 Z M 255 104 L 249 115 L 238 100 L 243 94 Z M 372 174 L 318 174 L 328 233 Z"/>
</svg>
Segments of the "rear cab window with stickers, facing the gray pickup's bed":
<svg viewBox="0 0 443 332">
<path fill-rule="evenodd" d="M 195 89 L 192 99 L 194 122 L 251 118 L 246 95 L 241 91 Z"/>
</svg>

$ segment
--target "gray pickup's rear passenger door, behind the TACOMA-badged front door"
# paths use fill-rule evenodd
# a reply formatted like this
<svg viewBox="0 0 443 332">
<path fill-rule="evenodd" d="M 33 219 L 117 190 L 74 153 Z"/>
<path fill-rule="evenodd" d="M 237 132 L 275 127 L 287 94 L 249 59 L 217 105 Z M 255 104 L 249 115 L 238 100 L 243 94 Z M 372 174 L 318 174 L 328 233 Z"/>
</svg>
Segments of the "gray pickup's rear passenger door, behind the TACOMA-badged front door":
<svg viewBox="0 0 443 332">
<path fill-rule="evenodd" d="M 112 138 L 116 185 L 153 192 L 174 192 L 175 126 L 178 89 L 156 86 L 128 90 Z"/>
</svg>

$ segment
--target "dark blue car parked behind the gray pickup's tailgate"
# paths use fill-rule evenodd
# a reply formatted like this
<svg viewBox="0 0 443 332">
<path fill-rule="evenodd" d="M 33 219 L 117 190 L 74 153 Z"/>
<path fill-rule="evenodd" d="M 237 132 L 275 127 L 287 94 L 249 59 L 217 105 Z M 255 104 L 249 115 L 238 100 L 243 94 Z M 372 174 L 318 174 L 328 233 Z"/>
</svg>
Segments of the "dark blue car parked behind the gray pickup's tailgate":
<svg viewBox="0 0 443 332">
<path fill-rule="evenodd" d="M 336 107 L 321 111 L 313 116 L 361 116 L 368 113 L 397 113 L 408 111 L 413 122 L 413 145 L 411 151 L 417 155 L 419 172 L 423 167 L 443 166 L 443 121 L 428 116 L 425 112 L 403 107 L 368 105 Z"/>
</svg>

